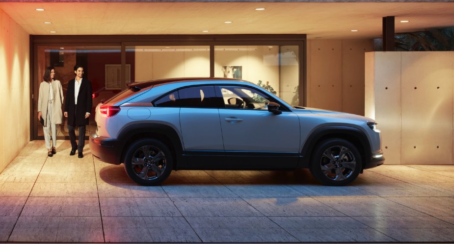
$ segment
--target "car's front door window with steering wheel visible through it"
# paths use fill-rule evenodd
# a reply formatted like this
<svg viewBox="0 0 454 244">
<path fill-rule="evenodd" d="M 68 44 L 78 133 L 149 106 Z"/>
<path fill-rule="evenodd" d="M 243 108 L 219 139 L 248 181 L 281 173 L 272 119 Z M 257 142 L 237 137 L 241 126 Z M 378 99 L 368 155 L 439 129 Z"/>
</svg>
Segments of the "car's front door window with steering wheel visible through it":
<svg viewBox="0 0 454 244">
<path fill-rule="evenodd" d="M 251 87 L 219 86 L 225 108 L 267 109 L 269 97 Z"/>
</svg>

